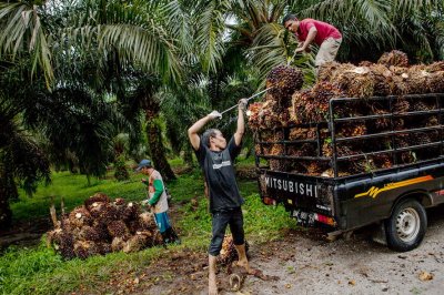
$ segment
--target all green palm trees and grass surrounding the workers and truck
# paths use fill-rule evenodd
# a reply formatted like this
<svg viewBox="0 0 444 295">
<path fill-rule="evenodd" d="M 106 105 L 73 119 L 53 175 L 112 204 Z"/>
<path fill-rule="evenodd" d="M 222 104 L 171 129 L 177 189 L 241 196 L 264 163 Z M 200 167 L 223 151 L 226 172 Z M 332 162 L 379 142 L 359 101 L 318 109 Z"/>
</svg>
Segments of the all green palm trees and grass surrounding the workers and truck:
<svg viewBox="0 0 444 295">
<path fill-rule="evenodd" d="M 289 12 L 337 27 L 342 62 L 392 49 L 412 63 L 444 58 L 438 0 L 0 1 L 0 234 L 48 220 L 51 197 L 68 210 L 99 191 L 142 200 L 131 166 L 150 157 L 174 195 L 181 247 L 203 250 L 210 216 L 186 129 L 263 89 L 270 70 L 291 59 L 297 43 L 281 23 Z M 291 64 L 306 85 L 314 53 Z M 213 126 L 230 134 L 234 122 L 226 114 Z M 251 167 L 250 133 L 244 146 L 238 165 Z M 260 203 L 255 181 L 241 181 L 241 191 L 252 238 L 293 224 Z M 158 252 L 63 262 L 44 242 L 11 246 L 0 257 L 0 291 L 94 289 L 112 269 L 138 268 Z"/>
</svg>

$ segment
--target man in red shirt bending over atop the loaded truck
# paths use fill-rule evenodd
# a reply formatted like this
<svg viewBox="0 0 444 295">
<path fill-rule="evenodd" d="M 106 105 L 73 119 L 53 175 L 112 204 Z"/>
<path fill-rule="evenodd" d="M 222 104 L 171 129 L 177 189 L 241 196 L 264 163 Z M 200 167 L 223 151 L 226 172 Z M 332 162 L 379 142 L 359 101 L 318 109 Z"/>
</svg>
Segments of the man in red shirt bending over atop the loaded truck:
<svg viewBox="0 0 444 295">
<path fill-rule="evenodd" d="M 314 42 L 320 47 L 314 61 L 317 69 L 325 62 L 335 59 L 342 42 L 342 34 L 332 24 L 313 19 L 300 21 L 294 14 L 286 14 L 282 23 L 300 41 L 294 53 L 309 51 L 309 45 Z"/>
</svg>

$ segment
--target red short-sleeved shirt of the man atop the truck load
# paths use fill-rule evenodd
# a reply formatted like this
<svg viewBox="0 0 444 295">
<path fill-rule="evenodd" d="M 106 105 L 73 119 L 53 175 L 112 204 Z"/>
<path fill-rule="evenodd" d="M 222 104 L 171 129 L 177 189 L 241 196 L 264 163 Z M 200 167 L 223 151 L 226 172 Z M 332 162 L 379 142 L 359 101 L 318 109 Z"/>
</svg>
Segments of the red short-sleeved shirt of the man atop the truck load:
<svg viewBox="0 0 444 295">
<path fill-rule="evenodd" d="M 317 30 L 316 37 L 314 38 L 314 42 L 317 45 L 321 45 L 322 42 L 325 41 L 327 38 L 333 39 L 341 39 L 341 32 L 331 26 L 330 23 L 313 20 L 313 19 L 303 19 L 300 21 L 299 29 L 296 32 L 296 37 L 300 41 L 305 41 L 306 37 L 309 35 L 310 29 L 314 27 Z"/>
</svg>

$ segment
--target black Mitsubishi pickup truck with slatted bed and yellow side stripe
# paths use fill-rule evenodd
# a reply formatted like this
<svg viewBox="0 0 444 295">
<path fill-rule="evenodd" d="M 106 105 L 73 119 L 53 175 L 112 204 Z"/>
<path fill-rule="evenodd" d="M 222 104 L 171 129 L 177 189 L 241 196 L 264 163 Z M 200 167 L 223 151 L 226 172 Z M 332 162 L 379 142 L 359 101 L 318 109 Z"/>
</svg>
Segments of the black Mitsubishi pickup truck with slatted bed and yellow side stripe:
<svg viewBox="0 0 444 295">
<path fill-rule="evenodd" d="M 428 106 L 400 110 L 394 108 L 400 100 Z M 425 208 L 444 203 L 443 103 L 443 93 L 337 98 L 330 100 L 324 122 L 256 131 L 255 167 L 262 202 L 283 204 L 299 224 L 327 227 L 335 234 L 379 224 L 390 248 L 405 252 L 417 247 L 427 227 Z M 344 111 L 353 104 L 373 111 Z M 360 109 L 356 105 L 354 109 Z M 340 132 L 341 125 L 375 122 L 385 125 L 377 132 Z M 311 130 L 312 136 L 291 138 L 294 130 L 304 129 Z M 281 136 L 271 135 L 278 133 Z M 411 140 L 403 140 L 407 138 Z M 307 143 L 310 155 L 294 153 Z M 361 148 L 345 149 L 353 144 Z M 279 152 L 271 153 L 276 145 Z M 384 163 L 375 165 L 376 159 Z M 294 169 L 297 163 L 329 169 L 306 173 Z M 364 163 L 361 170 L 344 173 L 344 166 L 357 163 Z"/>
</svg>

